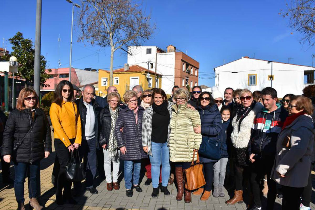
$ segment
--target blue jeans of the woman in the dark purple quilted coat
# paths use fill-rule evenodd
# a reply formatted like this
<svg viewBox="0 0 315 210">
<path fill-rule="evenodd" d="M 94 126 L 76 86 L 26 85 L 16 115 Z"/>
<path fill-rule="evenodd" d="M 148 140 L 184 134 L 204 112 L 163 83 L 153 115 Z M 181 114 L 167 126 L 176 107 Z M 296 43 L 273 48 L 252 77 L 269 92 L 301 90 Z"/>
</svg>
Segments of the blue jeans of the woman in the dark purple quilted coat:
<svg viewBox="0 0 315 210">
<path fill-rule="evenodd" d="M 131 189 L 131 179 L 134 178 L 133 184 L 139 184 L 140 178 L 140 169 L 141 169 L 141 159 L 133 160 L 133 161 L 124 161 L 123 162 L 123 175 L 125 179 L 125 187 L 127 189 Z M 132 173 L 132 168 L 134 167 L 134 172 Z"/>
</svg>

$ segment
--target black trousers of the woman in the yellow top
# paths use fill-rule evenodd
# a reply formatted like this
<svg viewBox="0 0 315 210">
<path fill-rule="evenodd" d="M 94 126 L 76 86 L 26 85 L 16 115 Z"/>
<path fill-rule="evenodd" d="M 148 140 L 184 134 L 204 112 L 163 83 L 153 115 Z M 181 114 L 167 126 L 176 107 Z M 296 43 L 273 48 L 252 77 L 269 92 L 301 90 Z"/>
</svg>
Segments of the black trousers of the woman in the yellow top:
<svg viewBox="0 0 315 210">
<path fill-rule="evenodd" d="M 75 139 L 70 139 L 71 144 L 74 143 Z M 57 179 L 57 189 L 56 189 L 56 197 L 62 196 L 62 189 L 63 195 L 66 197 L 71 196 L 71 185 L 72 182 L 66 178 L 66 166 L 70 161 L 70 152 L 69 149 L 63 144 L 60 139 L 54 140 L 54 146 L 56 150 L 56 155 L 58 157 L 58 162 L 60 164 L 60 169 L 58 173 Z"/>
</svg>

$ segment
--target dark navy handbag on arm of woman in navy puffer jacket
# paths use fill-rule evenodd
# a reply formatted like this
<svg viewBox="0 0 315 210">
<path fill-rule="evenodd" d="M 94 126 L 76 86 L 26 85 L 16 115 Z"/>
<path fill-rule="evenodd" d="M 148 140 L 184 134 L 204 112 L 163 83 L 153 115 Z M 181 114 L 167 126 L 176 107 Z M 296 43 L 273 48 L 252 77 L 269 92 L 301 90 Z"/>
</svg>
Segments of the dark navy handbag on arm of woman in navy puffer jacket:
<svg viewBox="0 0 315 210">
<path fill-rule="evenodd" d="M 221 142 L 219 139 L 208 141 L 202 140 L 198 150 L 200 157 L 205 157 L 211 160 L 220 160 Z"/>
</svg>

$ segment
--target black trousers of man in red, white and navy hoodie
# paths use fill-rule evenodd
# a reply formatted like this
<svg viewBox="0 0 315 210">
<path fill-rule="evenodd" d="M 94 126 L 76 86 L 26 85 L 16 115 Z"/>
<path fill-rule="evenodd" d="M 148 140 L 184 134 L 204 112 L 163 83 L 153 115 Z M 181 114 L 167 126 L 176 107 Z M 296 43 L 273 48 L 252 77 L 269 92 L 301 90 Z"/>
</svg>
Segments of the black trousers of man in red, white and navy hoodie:
<svg viewBox="0 0 315 210">
<path fill-rule="evenodd" d="M 256 160 L 254 163 L 250 164 L 251 169 L 251 185 L 252 192 L 254 196 L 254 205 L 255 207 L 261 207 L 261 180 L 264 178 L 264 175 L 267 174 L 267 185 L 268 185 L 268 194 L 267 194 L 267 209 L 273 209 L 274 202 L 277 196 L 276 182 L 273 179 L 270 179 L 271 170 L 273 167 L 272 160 Z"/>
</svg>

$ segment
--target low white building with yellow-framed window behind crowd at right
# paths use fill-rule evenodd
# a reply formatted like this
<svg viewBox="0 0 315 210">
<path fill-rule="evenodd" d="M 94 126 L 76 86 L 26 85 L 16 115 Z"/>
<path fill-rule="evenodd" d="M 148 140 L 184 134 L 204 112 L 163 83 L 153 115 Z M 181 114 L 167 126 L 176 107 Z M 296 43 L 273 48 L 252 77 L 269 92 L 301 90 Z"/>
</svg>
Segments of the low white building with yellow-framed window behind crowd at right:
<svg viewBox="0 0 315 210">
<path fill-rule="evenodd" d="M 248 88 L 250 91 L 275 88 L 278 97 L 285 94 L 301 95 L 305 86 L 314 84 L 315 67 L 275 61 L 252 59 L 247 56 L 214 68 L 215 86 Z"/>
</svg>

